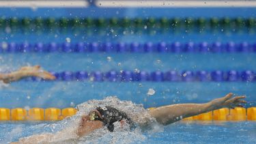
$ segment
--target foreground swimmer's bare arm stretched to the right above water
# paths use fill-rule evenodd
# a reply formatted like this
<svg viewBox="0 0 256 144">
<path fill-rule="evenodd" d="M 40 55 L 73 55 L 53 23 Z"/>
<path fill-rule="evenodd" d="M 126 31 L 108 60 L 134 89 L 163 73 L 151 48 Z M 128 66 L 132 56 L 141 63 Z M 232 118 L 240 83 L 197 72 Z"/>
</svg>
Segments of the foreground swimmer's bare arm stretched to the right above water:
<svg viewBox="0 0 256 144">
<path fill-rule="evenodd" d="M 205 104 L 173 104 L 169 106 L 160 106 L 156 109 L 150 110 L 150 114 L 156 118 L 160 124 L 168 125 L 182 118 L 199 115 L 208 111 L 214 111 L 221 108 L 231 108 L 241 106 L 246 103 L 245 96 L 233 97 L 233 93 L 228 93 L 223 98 L 217 98 Z"/>
</svg>

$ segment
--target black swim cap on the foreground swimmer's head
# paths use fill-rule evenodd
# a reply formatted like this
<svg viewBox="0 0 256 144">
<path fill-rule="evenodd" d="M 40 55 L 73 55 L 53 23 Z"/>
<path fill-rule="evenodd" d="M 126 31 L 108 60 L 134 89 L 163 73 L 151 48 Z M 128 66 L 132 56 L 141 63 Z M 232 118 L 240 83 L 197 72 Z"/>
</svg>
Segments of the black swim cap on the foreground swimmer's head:
<svg viewBox="0 0 256 144">
<path fill-rule="evenodd" d="M 98 120 L 102 121 L 104 126 L 106 126 L 110 132 L 113 132 L 114 130 L 113 123 L 115 121 L 122 121 L 123 119 L 126 120 L 131 129 L 135 127 L 134 122 L 130 117 L 128 117 L 128 115 L 126 115 L 126 113 L 119 111 L 112 106 L 98 107 L 96 110 L 100 112 L 100 115 L 102 115 L 102 119 Z"/>
</svg>

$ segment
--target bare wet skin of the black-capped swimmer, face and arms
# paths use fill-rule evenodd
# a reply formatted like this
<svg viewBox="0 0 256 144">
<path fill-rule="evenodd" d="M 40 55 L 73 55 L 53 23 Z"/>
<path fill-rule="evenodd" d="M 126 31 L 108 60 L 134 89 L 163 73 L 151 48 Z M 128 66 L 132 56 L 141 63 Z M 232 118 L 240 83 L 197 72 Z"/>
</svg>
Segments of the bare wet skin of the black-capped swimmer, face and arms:
<svg viewBox="0 0 256 144">
<path fill-rule="evenodd" d="M 149 110 L 150 115 L 158 121 L 159 124 L 168 125 L 175 121 L 181 120 L 177 117 L 190 117 L 193 115 L 199 115 L 201 113 L 206 113 L 208 111 L 214 111 L 216 109 L 221 108 L 230 108 L 233 109 L 236 106 L 242 106 L 241 104 L 245 104 L 246 100 L 245 96 L 235 96 L 233 97 L 233 93 L 228 93 L 223 98 L 217 98 L 210 102 L 203 103 L 203 104 L 172 104 L 167 106 L 160 106 L 156 109 Z M 96 111 L 96 110 L 93 110 Z M 89 113 L 90 114 L 90 113 Z M 93 132 L 96 129 L 102 128 L 104 126 L 102 121 L 98 120 L 90 120 L 88 115 L 84 115 L 81 118 L 79 128 L 76 130 L 77 136 L 84 136 Z M 100 117 L 100 115 L 98 115 Z M 120 121 L 121 126 L 124 121 Z M 29 143 L 36 143 L 40 139 L 49 139 L 50 136 L 42 136 L 42 135 L 33 135 L 26 141 Z M 17 142 L 14 142 L 17 143 Z M 23 139 L 20 139 L 18 143 L 27 143 L 23 142 Z"/>
</svg>

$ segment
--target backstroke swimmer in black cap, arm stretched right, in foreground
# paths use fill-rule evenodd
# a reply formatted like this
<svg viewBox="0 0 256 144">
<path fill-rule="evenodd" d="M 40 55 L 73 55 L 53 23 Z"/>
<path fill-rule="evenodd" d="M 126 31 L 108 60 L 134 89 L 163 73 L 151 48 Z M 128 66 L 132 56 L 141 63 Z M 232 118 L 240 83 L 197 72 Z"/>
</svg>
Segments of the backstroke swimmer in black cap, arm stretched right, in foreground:
<svg viewBox="0 0 256 144">
<path fill-rule="evenodd" d="M 217 98 L 203 104 L 173 104 L 143 111 L 144 113 L 137 111 L 135 114 L 133 109 L 130 109 L 130 107 L 128 107 L 128 109 L 126 109 L 127 111 L 124 112 L 114 108 L 113 106 L 96 106 L 95 109 L 92 109 L 87 113 L 87 115 L 84 114 L 84 111 L 79 110 L 78 113 L 82 113 L 83 115 L 80 118 L 80 121 L 76 123 L 78 126 L 72 126 L 72 128 L 70 128 L 74 133 L 74 136 L 71 136 L 72 138 L 65 137 L 72 135 L 68 133 L 68 128 L 66 128 L 56 134 L 46 133 L 32 135 L 26 138 L 21 138 L 18 142 L 13 143 L 54 143 L 57 139 L 60 139 L 61 136 L 63 139 L 69 140 L 80 139 L 82 136 L 93 134 L 95 130 L 99 130 L 100 128 L 106 128 L 106 130 L 113 132 L 115 130 L 115 126 L 117 126 L 115 125 L 115 122 L 119 122 L 118 124 L 121 128 L 123 126 L 128 126 L 127 130 L 132 130 L 136 126 L 143 128 L 149 126 L 151 122 L 148 119 L 145 119 L 145 113 L 150 115 L 150 117 L 155 119 L 159 124 L 169 125 L 175 121 L 180 121 L 182 118 L 199 115 L 201 113 L 221 108 L 234 109 L 236 106 L 242 106 L 241 104 L 246 103 L 246 100 L 244 100 L 244 98 L 246 98 L 245 96 L 232 96 L 233 93 L 228 93 L 223 98 Z M 105 103 L 106 102 L 101 102 L 100 104 Z M 119 104 L 122 106 L 125 105 L 124 102 L 119 102 Z M 128 113 L 130 115 L 128 115 Z M 145 121 L 138 121 L 138 117 Z"/>
</svg>

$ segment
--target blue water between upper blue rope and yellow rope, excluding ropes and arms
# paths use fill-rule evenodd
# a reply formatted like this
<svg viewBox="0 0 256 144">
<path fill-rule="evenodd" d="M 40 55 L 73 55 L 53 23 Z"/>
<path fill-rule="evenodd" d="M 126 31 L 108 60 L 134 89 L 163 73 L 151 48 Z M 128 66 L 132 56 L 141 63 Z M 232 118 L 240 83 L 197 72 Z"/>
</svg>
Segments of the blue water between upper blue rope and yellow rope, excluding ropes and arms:
<svg viewBox="0 0 256 144">
<path fill-rule="evenodd" d="M 109 70 L 256 70 L 255 53 L 231 54 L 2 54 L 1 70 L 16 70 L 21 66 L 40 64 L 54 72 Z M 111 57 L 111 61 L 107 59 Z M 147 59 L 147 60 L 145 60 Z M 143 61 L 143 62 L 142 62 Z M 221 61 L 221 62 L 220 62 Z M 120 63 L 120 64 L 119 64 Z M 154 96 L 147 96 L 153 88 Z M 253 82 L 191 82 L 191 83 L 119 83 L 119 82 L 25 82 L 12 83 L 0 91 L 0 104 L 14 108 L 56 106 L 64 108 L 70 103 L 79 104 L 90 99 L 118 96 L 122 100 L 144 104 L 146 108 L 180 102 L 208 102 L 233 92 L 246 95 L 248 104 L 255 106 L 256 83 Z"/>
</svg>

